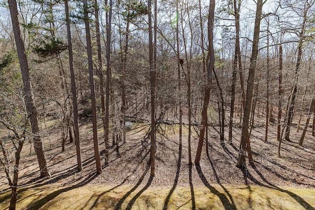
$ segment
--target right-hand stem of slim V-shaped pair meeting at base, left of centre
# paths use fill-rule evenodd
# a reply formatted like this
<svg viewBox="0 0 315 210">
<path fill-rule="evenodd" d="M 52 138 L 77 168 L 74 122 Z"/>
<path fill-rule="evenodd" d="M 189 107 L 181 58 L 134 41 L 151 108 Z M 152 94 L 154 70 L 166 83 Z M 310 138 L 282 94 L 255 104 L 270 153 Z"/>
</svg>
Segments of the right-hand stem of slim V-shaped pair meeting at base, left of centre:
<svg viewBox="0 0 315 210">
<path fill-rule="evenodd" d="M 107 3 L 107 0 L 106 0 Z M 111 25 L 112 25 L 112 7 L 113 7 L 113 1 L 109 0 L 109 11 L 106 13 L 106 22 L 107 22 L 107 28 L 106 28 L 106 101 L 105 101 L 105 144 L 109 142 L 109 92 L 110 92 L 110 40 L 111 40 Z M 115 138 L 113 136 L 113 138 Z M 118 142 L 117 142 L 118 146 Z"/>
</svg>

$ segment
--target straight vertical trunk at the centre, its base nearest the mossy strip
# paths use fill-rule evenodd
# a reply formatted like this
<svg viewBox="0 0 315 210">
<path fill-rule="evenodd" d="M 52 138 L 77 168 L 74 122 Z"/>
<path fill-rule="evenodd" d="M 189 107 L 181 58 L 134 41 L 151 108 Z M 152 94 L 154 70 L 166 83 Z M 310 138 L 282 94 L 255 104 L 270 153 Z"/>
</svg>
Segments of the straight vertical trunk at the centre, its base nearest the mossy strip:
<svg viewBox="0 0 315 210">
<path fill-rule="evenodd" d="M 155 175 L 155 69 L 153 60 L 153 37 L 152 37 L 152 4 L 148 0 L 148 18 L 149 18 L 149 63 L 150 63 L 150 95 L 151 95 L 151 147 L 150 147 L 150 175 Z"/>
</svg>

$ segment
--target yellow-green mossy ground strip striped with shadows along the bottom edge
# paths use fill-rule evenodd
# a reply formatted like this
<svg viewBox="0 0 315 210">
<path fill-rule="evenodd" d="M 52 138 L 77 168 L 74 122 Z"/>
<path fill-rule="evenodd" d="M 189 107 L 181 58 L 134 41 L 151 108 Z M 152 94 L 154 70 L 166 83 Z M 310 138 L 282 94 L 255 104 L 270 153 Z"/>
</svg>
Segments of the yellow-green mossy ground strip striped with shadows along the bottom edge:
<svg viewBox="0 0 315 210">
<path fill-rule="evenodd" d="M 261 187 L 249 185 L 195 186 L 191 188 L 57 184 L 21 187 L 17 209 L 24 210 L 302 210 L 315 209 L 315 189 Z M 7 209 L 10 192 L 0 194 L 0 209 Z"/>
</svg>

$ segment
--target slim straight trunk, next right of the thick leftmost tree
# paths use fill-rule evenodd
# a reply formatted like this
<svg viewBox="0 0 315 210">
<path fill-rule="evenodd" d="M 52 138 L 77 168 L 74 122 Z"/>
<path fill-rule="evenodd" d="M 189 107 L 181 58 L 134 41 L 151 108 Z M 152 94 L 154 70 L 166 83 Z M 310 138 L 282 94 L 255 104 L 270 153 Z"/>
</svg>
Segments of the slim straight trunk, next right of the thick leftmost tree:
<svg viewBox="0 0 315 210">
<path fill-rule="evenodd" d="M 70 67 L 71 90 L 72 90 L 75 147 L 76 147 L 76 152 L 77 152 L 78 171 L 82 171 L 83 168 L 82 168 L 81 149 L 80 149 L 77 92 L 76 92 L 76 87 L 75 87 L 75 78 L 74 78 L 74 70 L 73 70 L 73 52 L 72 52 L 72 42 L 71 42 L 71 30 L 70 30 L 68 0 L 64 0 L 64 10 L 65 10 L 65 22 L 67 25 L 67 36 L 68 36 L 68 54 L 69 54 L 69 67 Z"/>
</svg>

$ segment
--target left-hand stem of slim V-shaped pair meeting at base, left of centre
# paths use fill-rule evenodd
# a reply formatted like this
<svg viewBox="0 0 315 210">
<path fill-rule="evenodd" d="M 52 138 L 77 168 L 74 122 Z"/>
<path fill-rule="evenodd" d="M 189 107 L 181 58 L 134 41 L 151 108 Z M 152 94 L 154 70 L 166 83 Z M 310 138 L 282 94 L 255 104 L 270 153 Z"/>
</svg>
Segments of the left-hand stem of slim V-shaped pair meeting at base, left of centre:
<svg viewBox="0 0 315 210">
<path fill-rule="evenodd" d="M 99 18 L 98 18 L 99 6 L 97 0 L 95 0 L 95 29 L 96 29 L 96 45 L 97 45 L 97 61 L 98 61 L 98 76 L 99 76 L 99 89 L 100 89 L 100 101 L 101 101 L 101 110 L 102 110 L 102 122 L 103 122 L 103 135 L 105 143 L 105 166 L 108 165 L 109 161 L 109 144 L 108 139 L 106 141 L 105 132 L 106 132 L 106 120 L 105 120 L 105 98 L 104 98 L 104 75 L 103 75 L 103 66 L 102 66 L 102 54 L 101 54 L 101 45 L 100 45 L 100 30 L 99 30 Z"/>
</svg>

